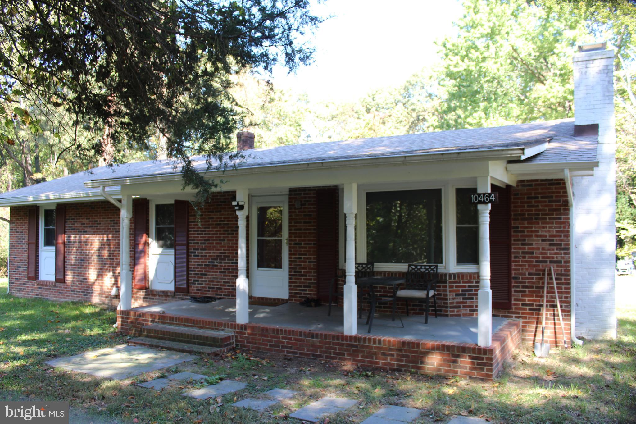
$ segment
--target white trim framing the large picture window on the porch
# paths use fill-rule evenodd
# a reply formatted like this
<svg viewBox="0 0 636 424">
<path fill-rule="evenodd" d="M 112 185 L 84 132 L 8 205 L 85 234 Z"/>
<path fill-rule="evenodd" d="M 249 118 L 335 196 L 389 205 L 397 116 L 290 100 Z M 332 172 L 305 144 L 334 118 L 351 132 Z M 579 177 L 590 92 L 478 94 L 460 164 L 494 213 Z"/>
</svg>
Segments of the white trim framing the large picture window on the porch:
<svg viewBox="0 0 636 424">
<path fill-rule="evenodd" d="M 479 272 L 478 264 L 458 265 L 455 240 L 455 188 L 476 188 L 476 179 L 456 181 L 424 181 L 410 184 L 369 184 L 358 186 L 358 209 L 356 214 L 356 262 L 366 262 L 366 193 L 369 191 L 401 191 L 418 189 L 441 189 L 442 191 L 442 262 L 443 272 Z M 342 196 L 341 196 L 342 199 Z M 342 202 L 340 202 L 342 204 Z M 340 266 L 344 266 L 344 218 L 340 211 Z M 408 264 L 375 264 L 376 271 L 405 272 Z"/>
</svg>

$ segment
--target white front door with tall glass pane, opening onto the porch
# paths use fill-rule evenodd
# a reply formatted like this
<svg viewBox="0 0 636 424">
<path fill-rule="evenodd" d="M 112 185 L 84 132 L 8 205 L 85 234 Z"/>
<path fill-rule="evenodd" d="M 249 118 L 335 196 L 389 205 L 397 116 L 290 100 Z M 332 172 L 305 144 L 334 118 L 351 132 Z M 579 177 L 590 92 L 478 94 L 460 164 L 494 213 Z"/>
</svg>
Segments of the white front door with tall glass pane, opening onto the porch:
<svg viewBox="0 0 636 424">
<path fill-rule="evenodd" d="M 287 196 L 252 198 L 249 224 L 250 294 L 289 297 Z"/>
</svg>

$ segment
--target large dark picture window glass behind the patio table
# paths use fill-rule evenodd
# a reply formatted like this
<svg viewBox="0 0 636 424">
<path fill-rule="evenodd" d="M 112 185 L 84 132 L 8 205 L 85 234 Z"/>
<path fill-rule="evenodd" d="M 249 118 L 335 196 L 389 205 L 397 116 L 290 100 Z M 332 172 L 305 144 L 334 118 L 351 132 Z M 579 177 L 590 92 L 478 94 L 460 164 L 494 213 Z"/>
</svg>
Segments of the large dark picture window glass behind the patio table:
<svg viewBox="0 0 636 424">
<path fill-rule="evenodd" d="M 366 193 L 366 260 L 443 263 L 441 189 Z"/>
</svg>

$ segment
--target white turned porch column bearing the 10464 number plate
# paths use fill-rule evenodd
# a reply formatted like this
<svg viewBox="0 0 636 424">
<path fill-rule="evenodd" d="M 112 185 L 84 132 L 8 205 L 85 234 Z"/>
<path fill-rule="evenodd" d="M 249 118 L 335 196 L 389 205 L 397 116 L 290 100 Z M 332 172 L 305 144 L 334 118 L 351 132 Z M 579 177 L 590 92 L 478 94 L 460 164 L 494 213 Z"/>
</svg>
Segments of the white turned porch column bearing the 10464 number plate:
<svg viewBox="0 0 636 424">
<path fill-rule="evenodd" d="M 478 193 L 490 192 L 490 177 L 478 177 Z M 477 344 L 492 344 L 492 291 L 490 290 L 490 205 L 477 205 L 479 219 L 479 291 Z"/>
</svg>

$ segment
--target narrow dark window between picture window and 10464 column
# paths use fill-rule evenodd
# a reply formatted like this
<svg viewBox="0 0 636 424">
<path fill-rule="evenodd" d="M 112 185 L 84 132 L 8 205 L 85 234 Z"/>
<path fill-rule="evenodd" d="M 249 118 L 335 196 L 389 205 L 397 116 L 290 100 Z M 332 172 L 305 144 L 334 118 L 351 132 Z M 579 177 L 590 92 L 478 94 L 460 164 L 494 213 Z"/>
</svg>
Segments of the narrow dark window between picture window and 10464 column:
<svg viewBox="0 0 636 424">
<path fill-rule="evenodd" d="M 458 265 L 474 265 L 479 262 L 477 205 L 470 201 L 473 193 L 477 193 L 477 189 L 455 189 L 455 245 Z"/>
</svg>

